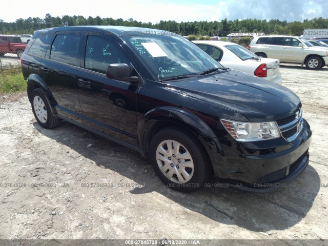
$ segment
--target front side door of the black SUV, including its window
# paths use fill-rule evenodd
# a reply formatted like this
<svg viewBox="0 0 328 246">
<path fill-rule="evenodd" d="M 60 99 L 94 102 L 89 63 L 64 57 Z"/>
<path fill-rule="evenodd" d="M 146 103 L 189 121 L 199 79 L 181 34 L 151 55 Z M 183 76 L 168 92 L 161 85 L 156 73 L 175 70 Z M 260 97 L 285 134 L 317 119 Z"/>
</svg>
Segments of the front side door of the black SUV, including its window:
<svg viewBox="0 0 328 246">
<path fill-rule="evenodd" d="M 84 49 L 84 64 L 77 73 L 84 125 L 136 145 L 138 86 L 106 77 L 109 64 L 130 65 L 132 59 L 106 35 L 86 36 Z"/>
</svg>

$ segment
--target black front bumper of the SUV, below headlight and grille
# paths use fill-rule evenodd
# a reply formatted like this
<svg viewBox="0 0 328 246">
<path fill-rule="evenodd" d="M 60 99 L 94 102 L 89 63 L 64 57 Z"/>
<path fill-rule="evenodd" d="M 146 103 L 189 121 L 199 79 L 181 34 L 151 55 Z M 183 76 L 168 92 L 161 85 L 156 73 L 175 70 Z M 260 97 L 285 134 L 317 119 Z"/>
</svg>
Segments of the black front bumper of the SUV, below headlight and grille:
<svg viewBox="0 0 328 246">
<path fill-rule="evenodd" d="M 270 192 L 285 187 L 309 164 L 312 131 L 306 120 L 292 142 L 283 138 L 258 142 L 222 141 L 224 156 L 215 176 L 243 190 Z"/>
</svg>

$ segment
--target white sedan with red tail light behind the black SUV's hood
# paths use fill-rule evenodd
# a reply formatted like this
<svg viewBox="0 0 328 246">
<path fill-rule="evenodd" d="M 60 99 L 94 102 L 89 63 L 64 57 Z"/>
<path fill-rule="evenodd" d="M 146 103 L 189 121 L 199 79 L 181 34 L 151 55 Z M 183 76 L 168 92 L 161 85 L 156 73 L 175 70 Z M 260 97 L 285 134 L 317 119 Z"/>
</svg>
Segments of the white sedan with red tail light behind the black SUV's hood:
<svg viewBox="0 0 328 246">
<path fill-rule="evenodd" d="M 222 66 L 261 77 L 281 85 L 278 59 L 260 58 L 244 47 L 222 41 L 193 41 Z"/>
</svg>

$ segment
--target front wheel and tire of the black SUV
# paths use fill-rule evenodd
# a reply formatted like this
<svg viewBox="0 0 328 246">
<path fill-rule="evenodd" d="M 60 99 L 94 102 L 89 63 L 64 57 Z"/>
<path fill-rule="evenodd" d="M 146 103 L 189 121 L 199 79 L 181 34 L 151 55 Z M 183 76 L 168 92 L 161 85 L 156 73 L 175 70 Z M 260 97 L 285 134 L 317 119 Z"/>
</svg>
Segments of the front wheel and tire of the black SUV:
<svg viewBox="0 0 328 246">
<path fill-rule="evenodd" d="M 167 155 L 163 155 L 165 151 L 168 151 Z M 165 128 L 157 132 L 151 141 L 149 156 L 157 176 L 174 190 L 194 191 L 211 175 L 210 160 L 203 146 L 195 136 L 180 128 Z"/>
</svg>

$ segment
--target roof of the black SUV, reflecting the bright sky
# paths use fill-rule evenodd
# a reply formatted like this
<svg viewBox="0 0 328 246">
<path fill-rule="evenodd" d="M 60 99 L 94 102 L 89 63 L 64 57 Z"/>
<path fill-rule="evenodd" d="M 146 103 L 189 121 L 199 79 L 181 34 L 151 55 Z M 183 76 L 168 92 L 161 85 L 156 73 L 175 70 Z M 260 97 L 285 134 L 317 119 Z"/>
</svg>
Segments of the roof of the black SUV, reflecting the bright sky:
<svg viewBox="0 0 328 246">
<path fill-rule="evenodd" d="M 53 27 L 35 31 L 36 35 L 54 34 L 55 32 L 76 31 L 76 32 L 112 32 L 117 36 L 133 36 L 133 35 L 177 35 L 173 32 L 150 29 L 143 27 L 124 27 L 124 26 L 71 26 L 71 27 Z"/>
</svg>

